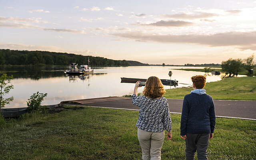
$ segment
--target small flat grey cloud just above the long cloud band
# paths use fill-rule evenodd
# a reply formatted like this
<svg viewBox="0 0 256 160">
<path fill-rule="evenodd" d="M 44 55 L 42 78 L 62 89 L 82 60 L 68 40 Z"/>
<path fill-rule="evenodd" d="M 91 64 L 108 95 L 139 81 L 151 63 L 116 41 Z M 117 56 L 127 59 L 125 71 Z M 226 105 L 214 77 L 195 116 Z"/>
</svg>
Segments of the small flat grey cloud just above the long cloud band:
<svg viewBox="0 0 256 160">
<path fill-rule="evenodd" d="M 138 24 L 141 26 L 183 27 L 183 26 L 191 26 L 194 23 L 186 22 L 182 20 L 168 20 L 168 21 L 160 20 L 158 22 L 150 23 L 150 24 L 141 24 L 141 23 L 138 23 Z"/>
</svg>

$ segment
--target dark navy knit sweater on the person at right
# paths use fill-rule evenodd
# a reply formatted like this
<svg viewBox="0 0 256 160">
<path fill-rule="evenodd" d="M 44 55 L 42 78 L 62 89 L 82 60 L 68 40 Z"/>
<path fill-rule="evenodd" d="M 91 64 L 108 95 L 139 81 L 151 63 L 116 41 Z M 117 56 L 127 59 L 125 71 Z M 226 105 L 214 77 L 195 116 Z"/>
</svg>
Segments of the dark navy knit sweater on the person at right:
<svg viewBox="0 0 256 160">
<path fill-rule="evenodd" d="M 184 97 L 180 122 L 180 135 L 213 133 L 215 108 L 208 94 L 190 93 Z"/>
</svg>

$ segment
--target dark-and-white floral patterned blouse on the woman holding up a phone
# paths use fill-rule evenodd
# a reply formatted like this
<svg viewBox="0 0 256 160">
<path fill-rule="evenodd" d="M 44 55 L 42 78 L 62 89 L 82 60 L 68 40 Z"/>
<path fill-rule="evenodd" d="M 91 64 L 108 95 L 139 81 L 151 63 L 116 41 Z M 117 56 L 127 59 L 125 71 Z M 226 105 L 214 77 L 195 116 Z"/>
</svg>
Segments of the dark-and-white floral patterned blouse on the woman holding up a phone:
<svg viewBox="0 0 256 160">
<path fill-rule="evenodd" d="M 136 126 L 148 132 L 162 132 L 172 130 L 172 119 L 166 98 L 147 98 L 132 95 L 132 104 L 140 107 L 140 114 Z"/>
</svg>

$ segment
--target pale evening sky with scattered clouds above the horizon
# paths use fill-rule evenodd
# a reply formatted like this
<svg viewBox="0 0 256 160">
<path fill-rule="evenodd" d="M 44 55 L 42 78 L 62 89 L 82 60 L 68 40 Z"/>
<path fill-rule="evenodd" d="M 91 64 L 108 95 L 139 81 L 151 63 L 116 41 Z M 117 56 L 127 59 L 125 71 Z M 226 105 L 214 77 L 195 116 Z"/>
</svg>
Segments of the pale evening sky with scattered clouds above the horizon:
<svg viewBox="0 0 256 160">
<path fill-rule="evenodd" d="M 256 52 L 256 0 L 0 0 L 0 48 L 148 64 Z"/>
</svg>

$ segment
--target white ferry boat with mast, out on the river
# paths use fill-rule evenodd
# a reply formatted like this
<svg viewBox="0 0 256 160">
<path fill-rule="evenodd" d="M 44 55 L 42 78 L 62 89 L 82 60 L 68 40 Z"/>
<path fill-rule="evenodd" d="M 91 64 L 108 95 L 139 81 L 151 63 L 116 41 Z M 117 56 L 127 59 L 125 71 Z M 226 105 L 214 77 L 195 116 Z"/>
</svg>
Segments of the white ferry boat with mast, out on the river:
<svg viewBox="0 0 256 160">
<path fill-rule="evenodd" d="M 72 74 L 72 75 L 80 75 L 80 74 L 91 74 L 93 73 L 93 69 L 90 67 L 90 59 L 88 59 L 88 65 L 81 65 L 79 68 L 77 67 L 77 63 L 71 63 L 69 65 L 68 70 L 66 70 L 64 73 L 66 74 Z"/>
</svg>

